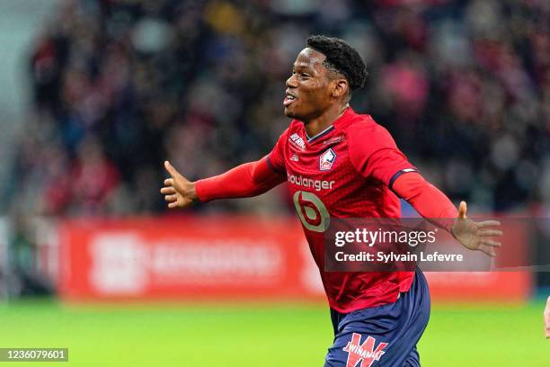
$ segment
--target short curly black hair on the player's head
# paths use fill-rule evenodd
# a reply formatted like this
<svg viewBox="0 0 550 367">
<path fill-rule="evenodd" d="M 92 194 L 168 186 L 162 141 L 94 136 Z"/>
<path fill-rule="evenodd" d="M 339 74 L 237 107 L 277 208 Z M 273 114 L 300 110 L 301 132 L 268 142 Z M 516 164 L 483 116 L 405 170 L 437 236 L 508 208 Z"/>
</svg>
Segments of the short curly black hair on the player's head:
<svg viewBox="0 0 550 367">
<path fill-rule="evenodd" d="M 359 56 L 357 49 L 353 49 L 345 40 L 322 35 L 307 37 L 307 47 L 321 52 L 326 59 L 324 66 L 333 69 L 345 76 L 352 91 L 362 88 L 367 80 L 367 67 Z"/>
</svg>

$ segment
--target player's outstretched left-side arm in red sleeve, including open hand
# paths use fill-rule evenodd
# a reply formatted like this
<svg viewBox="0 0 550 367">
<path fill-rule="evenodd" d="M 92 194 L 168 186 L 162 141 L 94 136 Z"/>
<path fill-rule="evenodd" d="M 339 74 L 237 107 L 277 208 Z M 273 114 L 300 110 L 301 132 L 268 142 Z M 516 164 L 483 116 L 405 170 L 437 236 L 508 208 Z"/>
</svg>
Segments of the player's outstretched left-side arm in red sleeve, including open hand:
<svg viewBox="0 0 550 367">
<path fill-rule="evenodd" d="M 164 167 L 171 178 L 164 180 L 161 193 L 168 201 L 168 208 L 184 208 L 194 201 L 212 201 L 227 198 L 245 198 L 260 195 L 286 181 L 286 176 L 275 172 L 267 158 L 245 163 L 225 174 L 192 183 L 183 177 L 168 161 Z"/>
</svg>

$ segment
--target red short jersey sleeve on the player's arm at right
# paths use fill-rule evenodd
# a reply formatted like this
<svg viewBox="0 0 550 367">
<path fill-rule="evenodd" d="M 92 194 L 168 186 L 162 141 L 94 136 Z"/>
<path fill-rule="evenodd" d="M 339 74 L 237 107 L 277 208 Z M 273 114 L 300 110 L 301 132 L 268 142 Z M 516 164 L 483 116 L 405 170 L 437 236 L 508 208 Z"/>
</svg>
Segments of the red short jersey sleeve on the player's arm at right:
<svg viewBox="0 0 550 367">
<path fill-rule="evenodd" d="M 374 122 L 368 127 L 349 130 L 348 140 L 351 164 L 365 178 L 372 177 L 391 189 L 400 175 L 417 172 L 390 133 Z"/>
</svg>

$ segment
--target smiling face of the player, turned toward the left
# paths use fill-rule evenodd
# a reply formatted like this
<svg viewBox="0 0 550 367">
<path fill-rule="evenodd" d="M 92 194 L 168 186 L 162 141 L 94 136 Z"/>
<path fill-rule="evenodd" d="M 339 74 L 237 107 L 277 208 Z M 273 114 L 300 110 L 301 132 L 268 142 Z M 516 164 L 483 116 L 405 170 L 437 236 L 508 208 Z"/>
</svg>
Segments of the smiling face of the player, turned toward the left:
<svg viewBox="0 0 550 367">
<path fill-rule="evenodd" d="M 322 115 L 332 103 L 326 57 L 315 49 L 302 49 L 298 54 L 292 76 L 287 80 L 283 105 L 285 115 L 299 121 L 311 121 Z"/>
</svg>

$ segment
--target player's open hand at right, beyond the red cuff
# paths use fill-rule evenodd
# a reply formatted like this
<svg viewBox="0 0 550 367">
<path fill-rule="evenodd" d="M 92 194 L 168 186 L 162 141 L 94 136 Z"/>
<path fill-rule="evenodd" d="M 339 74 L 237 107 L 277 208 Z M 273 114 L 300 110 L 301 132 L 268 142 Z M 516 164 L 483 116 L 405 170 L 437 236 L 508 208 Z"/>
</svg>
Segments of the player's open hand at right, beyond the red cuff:
<svg viewBox="0 0 550 367">
<path fill-rule="evenodd" d="M 467 218 L 466 202 L 461 201 L 458 207 L 458 218 L 453 223 L 452 232 L 462 246 L 494 256 L 494 247 L 500 247 L 501 243 L 493 241 L 491 237 L 501 237 L 502 232 L 492 228 L 500 225 L 501 222 L 498 220 L 475 222 Z"/>
</svg>

